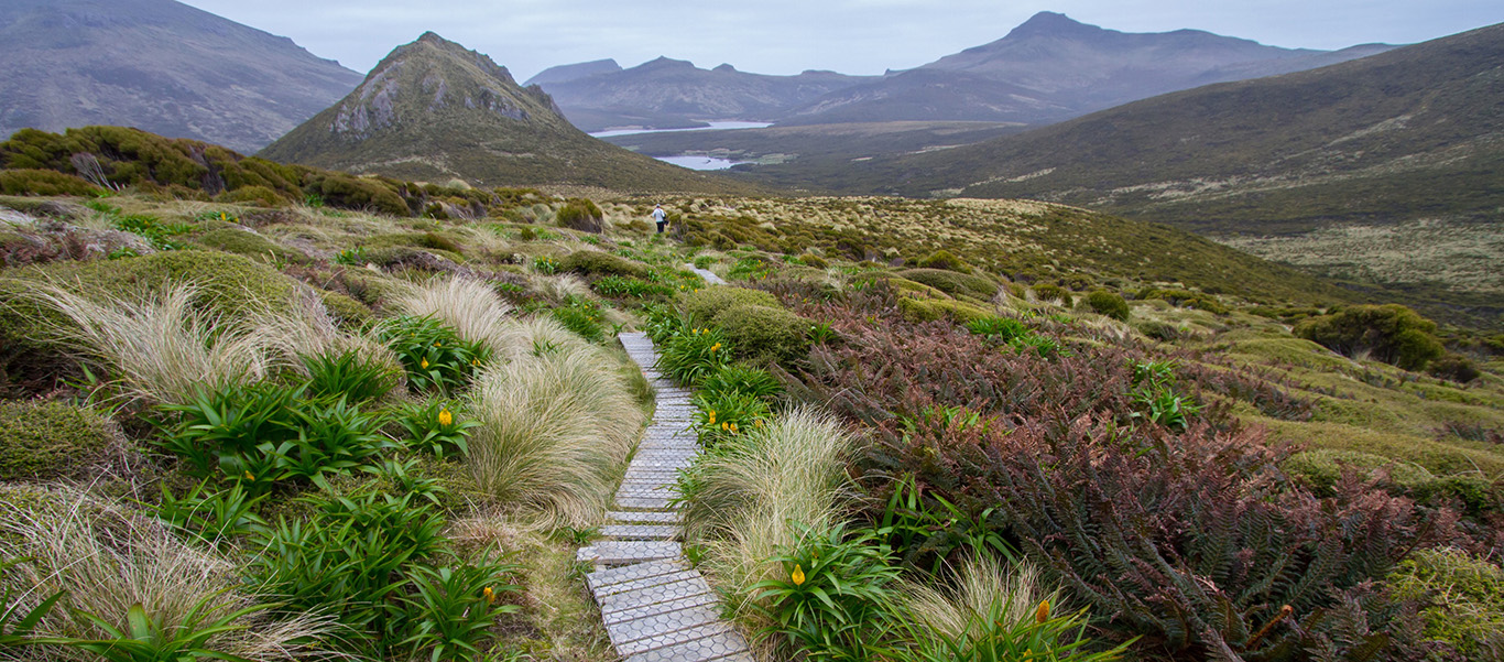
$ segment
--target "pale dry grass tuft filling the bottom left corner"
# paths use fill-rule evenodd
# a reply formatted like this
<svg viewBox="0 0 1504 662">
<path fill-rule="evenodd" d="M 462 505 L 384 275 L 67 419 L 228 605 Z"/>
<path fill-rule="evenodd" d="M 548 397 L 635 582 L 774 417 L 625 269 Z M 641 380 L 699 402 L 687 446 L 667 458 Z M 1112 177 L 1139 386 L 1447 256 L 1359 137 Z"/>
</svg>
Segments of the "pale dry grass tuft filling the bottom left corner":
<svg viewBox="0 0 1504 662">
<path fill-rule="evenodd" d="M 141 605 L 168 635 L 177 635 L 176 627 L 208 627 L 235 611 L 268 602 L 241 588 L 239 569 L 230 560 L 183 543 L 153 521 L 81 492 L 54 496 L 53 509 L 0 506 L 0 522 L 14 536 L 14 549 L 6 549 L 6 557 L 30 558 L 5 579 L 29 590 L 33 600 L 68 591 L 69 608 L 53 609 L 41 621 L 42 636 L 111 638 L 77 611 L 129 632 L 126 614 Z M 256 660 L 328 659 L 329 651 L 316 642 L 337 627 L 313 614 L 274 618 L 265 611 L 235 618 L 232 626 L 211 636 L 206 647 Z M 96 659 L 66 647 L 26 648 L 26 654 L 32 657 L 20 659 Z"/>
</svg>

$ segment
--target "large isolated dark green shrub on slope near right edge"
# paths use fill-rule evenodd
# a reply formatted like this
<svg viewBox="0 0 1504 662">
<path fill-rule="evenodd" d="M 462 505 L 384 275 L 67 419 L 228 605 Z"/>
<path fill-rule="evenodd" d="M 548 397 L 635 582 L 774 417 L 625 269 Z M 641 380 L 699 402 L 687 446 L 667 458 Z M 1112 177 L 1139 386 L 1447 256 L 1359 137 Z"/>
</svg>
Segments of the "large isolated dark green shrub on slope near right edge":
<svg viewBox="0 0 1504 662">
<path fill-rule="evenodd" d="M 1445 349 L 1433 333 L 1436 322 L 1400 304 L 1354 305 L 1295 325 L 1295 337 L 1354 357 L 1367 351 L 1378 361 L 1420 370 Z"/>
</svg>

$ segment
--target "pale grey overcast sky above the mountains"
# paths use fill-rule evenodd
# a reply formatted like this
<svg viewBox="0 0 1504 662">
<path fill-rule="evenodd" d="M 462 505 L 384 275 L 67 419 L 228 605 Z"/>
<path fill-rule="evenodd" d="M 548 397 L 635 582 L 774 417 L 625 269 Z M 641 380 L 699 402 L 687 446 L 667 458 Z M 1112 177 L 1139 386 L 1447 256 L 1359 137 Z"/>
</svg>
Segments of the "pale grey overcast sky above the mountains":
<svg viewBox="0 0 1504 662">
<path fill-rule="evenodd" d="M 1000 39 L 1035 12 L 1122 32 L 1182 27 L 1289 48 L 1414 44 L 1504 23 L 1499 0 L 183 0 L 367 72 L 433 30 L 523 81 L 657 56 L 757 74 L 881 74 Z"/>
</svg>

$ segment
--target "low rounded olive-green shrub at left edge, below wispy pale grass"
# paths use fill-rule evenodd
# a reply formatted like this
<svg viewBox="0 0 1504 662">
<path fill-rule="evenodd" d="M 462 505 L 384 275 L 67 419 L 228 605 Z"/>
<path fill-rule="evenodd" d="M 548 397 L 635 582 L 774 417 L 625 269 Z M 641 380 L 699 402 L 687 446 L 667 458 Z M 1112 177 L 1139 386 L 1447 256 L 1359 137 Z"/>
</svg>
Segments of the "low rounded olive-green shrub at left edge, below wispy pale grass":
<svg viewBox="0 0 1504 662">
<path fill-rule="evenodd" d="M 0 402 L 0 480 L 56 478 L 117 439 L 110 418 L 60 402 Z"/>
</svg>

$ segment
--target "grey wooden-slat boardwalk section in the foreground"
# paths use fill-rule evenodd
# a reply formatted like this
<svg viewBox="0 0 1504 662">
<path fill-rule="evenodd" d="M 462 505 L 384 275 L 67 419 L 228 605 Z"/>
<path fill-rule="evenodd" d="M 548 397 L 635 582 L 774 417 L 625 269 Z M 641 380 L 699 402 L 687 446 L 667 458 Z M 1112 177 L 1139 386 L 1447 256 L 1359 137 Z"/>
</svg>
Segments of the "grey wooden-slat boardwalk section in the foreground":
<svg viewBox="0 0 1504 662">
<path fill-rule="evenodd" d="M 653 369 L 657 354 L 647 336 L 623 333 L 621 345 L 657 387 L 657 412 L 617 490 L 603 540 L 579 551 L 596 564 L 585 579 L 606 633 L 627 662 L 752 662 L 746 639 L 720 620 L 705 578 L 684 561 L 680 515 L 669 506 L 675 471 L 699 453 L 689 430 L 689 390 Z"/>
</svg>

